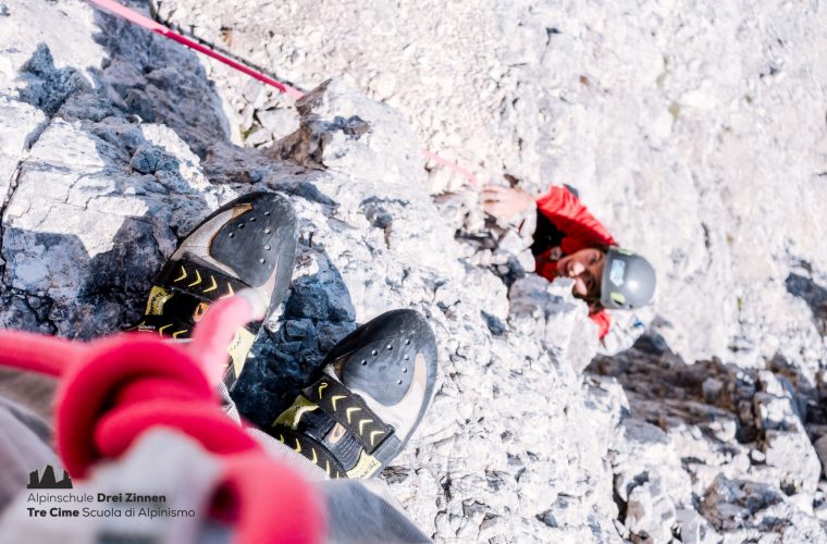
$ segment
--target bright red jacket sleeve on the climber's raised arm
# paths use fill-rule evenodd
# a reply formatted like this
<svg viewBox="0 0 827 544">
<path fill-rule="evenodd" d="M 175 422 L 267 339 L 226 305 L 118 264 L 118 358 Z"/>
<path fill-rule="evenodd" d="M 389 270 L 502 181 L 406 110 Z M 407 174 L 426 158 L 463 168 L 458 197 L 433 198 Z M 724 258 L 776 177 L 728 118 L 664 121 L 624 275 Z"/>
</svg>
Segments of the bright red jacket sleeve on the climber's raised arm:
<svg viewBox="0 0 827 544">
<path fill-rule="evenodd" d="M 538 199 L 536 207 L 557 228 L 583 246 L 615 245 L 615 238 L 606 227 L 566 187 L 552 186 Z"/>
</svg>

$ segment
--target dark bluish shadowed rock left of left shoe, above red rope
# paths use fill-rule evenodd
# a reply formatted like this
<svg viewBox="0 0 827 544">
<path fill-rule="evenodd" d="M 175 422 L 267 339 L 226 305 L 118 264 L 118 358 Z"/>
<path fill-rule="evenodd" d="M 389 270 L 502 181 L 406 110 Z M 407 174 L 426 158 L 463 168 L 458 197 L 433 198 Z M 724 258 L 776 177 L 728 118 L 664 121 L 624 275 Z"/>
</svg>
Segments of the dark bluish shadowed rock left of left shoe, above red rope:
<svg viewBox="0 0 827 544">
<path fill-rule="evenodd" d="M 136 321 L 163 256 L 141 218 L 111 242 L 90 258 L 78 236 L 7 228 L 0 326 L 89 339 Z"/>
</svg>

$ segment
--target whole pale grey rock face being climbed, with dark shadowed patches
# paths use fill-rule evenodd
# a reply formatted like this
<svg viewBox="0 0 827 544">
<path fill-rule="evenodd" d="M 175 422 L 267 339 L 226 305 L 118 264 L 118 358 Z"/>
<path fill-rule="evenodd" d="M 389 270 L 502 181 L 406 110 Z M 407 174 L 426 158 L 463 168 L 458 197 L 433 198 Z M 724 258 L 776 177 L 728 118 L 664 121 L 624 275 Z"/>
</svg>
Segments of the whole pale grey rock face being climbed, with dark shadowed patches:
<svg viewBox="0 0 827 544">
<path fill-rule="evenodd" d="M 461 83 L 454 77 L 468 74 L 436 63 L 424 41 L 411 41 L 402 54 L 421 64 L 417 70 L 427 88 L 450 97 L 435 101 L 435 109 L 422 107 L 423 97 L 433 96 L 424 94 L 425 87 L 402 85 L 402 75 L 388 75 L 393 71 L 355 71 L 357 83 L 367 78 L 362 88 L 373 99 L 353 82 L 307 72 L 313 65 L 310 51 L 324 53 L 330 62 L 325 74 L 336 72 L 331 69 L 333 44 L 351 16 L 338 8 L 296 3 L 295 17 L 309 17 L 312 10 L 343 23 L 331 26 L 330 35 L 326 26 L 307 32 L 303 47 L 308 49 L 299 50 L 287 46 L 286 33 L 279 40 L 258 39 L 261 21 L 281 21 L 272 7 L 259 7 L 252 21 L 249 3 L 224 3 L 222 16 L 247 17 L 249 26 L 231 24 L 222 30 L 215 26 L 223 24 L 221 17 L 200 2 L 164 0 L 159 5 L 163 16 L 181 17 L 199 32 L 214 30 L 232 50 L 245 52 L 252 37 L 266 44 L 264 60 L 292 70 L 288 76 L 321 83 L 295 101 L 201 65 L 203 59 L 79 0 L 2 4 L 0 326 L 84 338 L 118 331 L 135 321 L 152 276 L 209 210 L 246 191 L 280 191 L 291 198 L 299 219 L 296 270 L 289 296 L 264 327 L 233 396 L 249 420 L 266 426 L 358 323 L 391 308 L 421 311 L 437 336 L 437 392 L 423 425 L 382 478 L 428 534 L 444 542 L 826 541 L 819 524 L 827 520 L 827 502 L 818 456 L 825 456 L 819 437 L 827 436 L 827 418 L 819 409 L 824 341 L 817 320 L 826 314 L 827 295 L 818 275 L 824 256 L 816 255 L 811 238 L 798 239 L 794 231 L 791 239 L 801 247 L 790 245 L 789 259 L 769 262 L 767 256 L 777 256 L 787 242 L 762 230 L 763 238 L 749 244 L 766 243 L 752 257 L 768 279 L 749 283 L 735 277 L 729 263 L 749 254 L 746 234 L 757 232 L 750 231 L 757 212 L 746 208 L 744 218 L 725 214 L 715 222 L 714 213 L 699 206 L 708 187 L 698 180 L 683 183 L 674 190 L 677 200 L 649 220 L 659 228 L 640 228 L 649 234 L 630 236 L 641 247 L 656 248 L 664 294 L 692 300 L 686 317 L 670 302 L 655 320 L 674 349 L 654 335 L 625 356 L 600 359 L 584 371 L 596 341 L 585 308 L 569 295 L 570 285 L 508 277 L 515 283 L 507 293 L 492 270 L 507 276 L 515 262 L 530 268 L 518 251 L 519 240 L 501 230 L 504 237 L 487 249 L 479 240 L 471 243 L 474 231 L 491 227 L 476 208 L 476 195 L 434 196 L 457 184 L 445 171 L 423 168 L 422 136 L 431 146 L 462 144 L 479 153 L 468 161 L 484 159 L 496 170 L 502 163 L 521 176 L 578 173 L 589 201 L 600 183 L 607 196 L 628 193 L 647 211 L 655 209 L 652 202 L 669 200 L 667 185 L 650 184 L 652 178 L 723 180 L 719 152 L 700 153 L 703 166 L 698 170 L 689 165 L 692 153 L 677 150 L 695 136 L 715 128 L 729 146 L 727 152 L 744 152 L 741 162 L 751 164 L 754 156 L 743 147 L 745 135 L 754 136 L 750 123 L 768 126 L 770 120 L 757 109 L 776 100 L 780 90 L 750 90 L 750 101 L 743 98 L 726 110 L 737 120 L 711 123 L 701 112 L 729 103 L 727 97 L 743 90 L 740 81 L 727 76 L 725 90 L 709 90 L 701 75 L 711 66 L 694 66 L 680 51 L 670 53 L 667 64 L 642 32 L 646 25 L 672 28 L 681 17 L 692 28 L 700 25 L 698 17 L 712 17 L 712 8 L 687 13 L 647 4 L 652 16 L 631 22 L 624 14 L 604 21 L 588 2 L 576 4 L 566 8 L 582 10 L 572 18 L 552 8 L 523 10 L 519 2 L 495 2 L 494 15 L 476 12 L 484 24 L 472 25 L 473 40 L 447 23 L 429 27 L 442 37 L 440 47 L 458 39 L 454 61 L 469 65 L 478 42 L 517 33 L 517 39 L 498 42 L 481 57 L 492 65 L 474 70 L 470 79 L 478 99 L 491 101 L 503 121 L 485 137 L 480 135 L 490 112 L 452 92 Z M 724 21 L 733 16 L 715 5 Z M 428 2 L 377 7 L 371 16 L 382 21 L 395 20 L 397 8 L 412 21 L 420 10 L 443 9 Z M 812 21 L 797 23 L 801 37 L 783 47 L 804 47 L 802 40 L 823 16 L 814 10 Z M 593 20 L 601 22 L 592 26 Z M 744 39 L 756 36 L 750 21 L 739 30 Z M 629 25 L 646 47 L 630 47 L 618 29 Z M 378 25 L 375 32 L 388 29 L 418 26 L 394 23 Z M 686 32 L 653 38 L 676 46 L 691 40 Z M 377 51 L 387 44 L 378 44 Z M 621 60 L 642 59 L 647 69 L 638 73 L 640 63 L 629 63 L 604 77 L 604 50 L 617 51 Z M 592 65 L 572 62 L 589 58 Z M 801 71 L 807 59 L 795 60 Z M 251 60 L 261 59 L 252 54 Z M 372 60 L 366 55 L 354 62 L 361 66 Z M 689 67 L 691 77 L 682 70 Z M 406 70 L 400 66 L 399 74 Z M 744 77 L 743 85 L 753 85 L 752 76 Z M 792 85 L 777 73 L 767 77 L 783 88 Z M 640 78 L 662 81 L 656 87 L 667 89 L 666 95 Z M 695 83 L 696 91 L 681 92 Z M 535 92 L 540 86 L 551 90 Z M 680 99 L 667 108 L 672 95 Z M 617 100 L 632 107 L 618 108 Z M 456 111 L 440 118 L 446 108 Z M 592 126 L 593 115 L 606 118 L 595 125 L 605 132 Z M 447 129 L 446 123 L 461 116 L 473 137 Z M 536 120 L 543 121 L 542 128 Z M 815 122 L 801 126 L 799 149 L 823 135 Z M 632 141 L 629 131 L 635 138 L 645 136 L 645 151 L 631 152 L 635 150 L 617 143 Z M 578 139 L 571 134 L 583 136 L 579 148 L 603 149 L 607 159 L 570 153 Z M 769 140 L 766 134 L 760 133 L 760 145 Z M 497 139 L 502 156 L 491 161 Z M 545 141 L 553 143 L 553 156 L 541 152 Z M 778 147 L 772 146 L 773 152 Z M 807 168 L 817 162 L 815 153 L 804 154 Z M 813 181 L 809 172 L 795 183 L 801 190 L 812 188 L 813 198 L 790 209 L 819 217 L 813 210 L 822 189 L 807 185 Z M 732 193 L 720 185 L 721 194 Z M 739 193 L 728 198 L 716 206 L 735 213 L 744 209 L 739 199 L 752 197 Z M 634 233 L 644 221 L 629 208 L 610 210 L 594 200 L 613 226 Z M 774 213 L 767 221 L 780 224 Z M 675 228 L 664 219 L 678 217 L 687 221 Z M 732 243 L 721 230 L 728 221 Z M 706 243 L 702 225 L 708 227 Z M 820 223 L 813 228 L 822 228 Z M 677 242 L 662 243 L 665 232 Z M 754 274 L 754 267 L 748 272 Z M 741 294 L 737 311 L 735 292 L 727 290 L 732 286 Z M 729 302 L 718 311 L 715 297 L 723 299 L 725 293 Z M 758 311 L 760 305 L 774 311 Z M 721 323 L 701 316 L 701 307 L 716 308 Z M 764 337 L 769 335 L 775 343 Z M 690 337 L 700 338 L 698 345 L 690 345 Z M 743 342 L 731 344 L 733 338 Z M 761 343 L 746 345 L 758 338 Z M 686 366 L 676 355 L 694 350 L 720 353 L 732 363 L 714 359 Z M 768 363 L 758 357 L 776 351 L 780 355 Z M 811 440 L 818 440 L 816 447 Z"/>
</svg>

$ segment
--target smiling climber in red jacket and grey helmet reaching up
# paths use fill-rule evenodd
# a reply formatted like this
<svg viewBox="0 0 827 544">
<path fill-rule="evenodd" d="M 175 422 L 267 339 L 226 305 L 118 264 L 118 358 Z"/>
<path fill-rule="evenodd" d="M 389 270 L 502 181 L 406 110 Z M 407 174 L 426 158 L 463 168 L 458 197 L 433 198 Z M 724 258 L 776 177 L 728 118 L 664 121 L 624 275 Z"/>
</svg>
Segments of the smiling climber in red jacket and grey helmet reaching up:
<svg viewBox="0 0 827 544">
<path fill-rule="evenodd" d="M 482 206 L 504 222 L 519 220 L 520 234 L 532 238 L 538 274 L 550 281 L 557 276 L 575 280 L 572 293 L 589 305 L 601 339 L 612 329 L 606 309 L 631 310 L 652 301 L 655 272 L 649 261 L 618 247 L 606 227 L 566 187 L 552 186 L 535 198 L 519 187 L 486 185 Z"/>
</svg>

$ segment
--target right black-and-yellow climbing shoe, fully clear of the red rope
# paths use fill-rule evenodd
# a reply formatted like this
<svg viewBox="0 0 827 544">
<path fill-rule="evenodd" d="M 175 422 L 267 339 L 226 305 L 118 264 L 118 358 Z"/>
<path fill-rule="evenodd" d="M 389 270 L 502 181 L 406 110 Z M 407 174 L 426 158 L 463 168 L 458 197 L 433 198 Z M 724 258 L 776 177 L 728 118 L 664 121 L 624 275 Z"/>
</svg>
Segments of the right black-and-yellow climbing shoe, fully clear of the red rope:
<svg viewBox="0 0 827 544">
<path fill-rule="evenodd" d="M 436 381 L 436 341 L 414 310 L 393 310 L 346 336 L 319 380 L 268 430 L 330 478 L 370 478 L 405 447 Z"/>
</svg>

